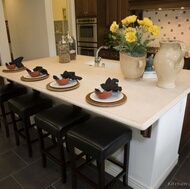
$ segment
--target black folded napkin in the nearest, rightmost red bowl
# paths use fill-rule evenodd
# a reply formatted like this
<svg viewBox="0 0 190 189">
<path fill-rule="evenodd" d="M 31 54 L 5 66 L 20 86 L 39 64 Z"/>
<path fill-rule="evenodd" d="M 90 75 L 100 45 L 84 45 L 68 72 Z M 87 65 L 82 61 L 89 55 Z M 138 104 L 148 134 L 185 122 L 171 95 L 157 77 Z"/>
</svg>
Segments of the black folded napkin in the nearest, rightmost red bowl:
<svg viewBox="0 0 190 189">
<path fill-rule="evenodd" d="M 110 77 L 106 80 L 105 83 L 100 84 L 100 86 L 102 87 L 102 89 L 104 89 L 105 91 L 113 91 L 113 92 L 117 92 L 117 91 L 121 91 L 122 87 L 118 86 L 118 82 L 119 80 L 116 78 L 111 79 Z M 100 89 L 95 88 L 96 91 L 100 91 Z"/>
</svg>

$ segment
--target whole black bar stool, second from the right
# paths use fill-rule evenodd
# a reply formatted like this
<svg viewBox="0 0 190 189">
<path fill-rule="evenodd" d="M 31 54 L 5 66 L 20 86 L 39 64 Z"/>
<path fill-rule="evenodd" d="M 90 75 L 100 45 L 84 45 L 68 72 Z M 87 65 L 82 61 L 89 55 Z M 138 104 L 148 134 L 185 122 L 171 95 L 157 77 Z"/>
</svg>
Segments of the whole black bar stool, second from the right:
<svg viewBox="0 0 190 189">
<path fill-rule="evenodd" d="M 89 114 L 77 106 L 68 106 L 65 104 L 54 106 L 48 110 L 35 115 L 35 123 L 38 129 L 40 149 L 42 156 L 42 166 L 46 167 L 46 157 L 58 164 L 61 168 L 61 179 L 65 183 L 67 179 L 66 166 L 69 162 L 65 160 L 63 144 L 66 143 L 67 131 L 76 124 L 89 118 Z M 47 132 L 56 142 L 53 141 L 51 146 L 45 146 L 43 132 Z M 57 148 L 59 156 L 56 157 L 52 150 Z M 80 154 L 82 156 L 82 154 Z"/>
</svg>

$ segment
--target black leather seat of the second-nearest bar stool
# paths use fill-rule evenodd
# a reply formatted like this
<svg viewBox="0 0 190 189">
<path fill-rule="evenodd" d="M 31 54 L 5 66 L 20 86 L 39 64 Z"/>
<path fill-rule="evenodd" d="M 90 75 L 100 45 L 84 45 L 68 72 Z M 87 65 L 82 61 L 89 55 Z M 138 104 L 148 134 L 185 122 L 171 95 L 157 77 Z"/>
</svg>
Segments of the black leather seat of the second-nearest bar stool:
<svg viewBox="0 0 190 189">
<path fill-rule="evenodd" d="M 38 128 L 45 129 L 55 137 L 62 137 L 73 125 L 88 117 L 89 114 L 77 106 L 61 104 L 36 114 L 35 122 Z"/>
</svg>

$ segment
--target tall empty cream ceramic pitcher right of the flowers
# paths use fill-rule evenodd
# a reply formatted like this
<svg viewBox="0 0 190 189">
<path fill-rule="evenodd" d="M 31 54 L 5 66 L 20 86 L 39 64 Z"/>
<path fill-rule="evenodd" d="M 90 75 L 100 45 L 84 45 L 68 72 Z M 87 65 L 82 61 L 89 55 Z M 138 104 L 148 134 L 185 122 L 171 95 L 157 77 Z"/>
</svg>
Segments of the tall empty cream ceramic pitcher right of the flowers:
<svg viewBox="0 0 190 189">
<path fill-rule="evenodd" d="M 160 41 L 160 49 L 154 57 L 157 86 L 174 88 L 177 74 L 184 65 L 185 45 L 177 40 Z"/>
</svg>

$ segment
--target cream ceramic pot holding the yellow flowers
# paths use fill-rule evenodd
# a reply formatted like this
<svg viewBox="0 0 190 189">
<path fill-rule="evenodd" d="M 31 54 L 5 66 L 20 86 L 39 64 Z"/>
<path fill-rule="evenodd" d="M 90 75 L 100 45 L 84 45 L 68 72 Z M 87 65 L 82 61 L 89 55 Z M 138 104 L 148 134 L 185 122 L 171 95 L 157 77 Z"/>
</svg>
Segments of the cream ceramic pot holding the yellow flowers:
<svg viewBox="0 0 190 189">
<path fill-rule="evenodd" d="M 146 55 L 133 57 L 127 53 L 120 52 L 120 68 L 127 80 L 138 81 L 144 73 L 146 66 Z"/>
</svg>

